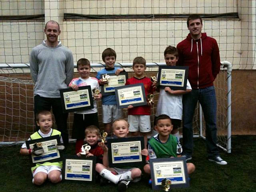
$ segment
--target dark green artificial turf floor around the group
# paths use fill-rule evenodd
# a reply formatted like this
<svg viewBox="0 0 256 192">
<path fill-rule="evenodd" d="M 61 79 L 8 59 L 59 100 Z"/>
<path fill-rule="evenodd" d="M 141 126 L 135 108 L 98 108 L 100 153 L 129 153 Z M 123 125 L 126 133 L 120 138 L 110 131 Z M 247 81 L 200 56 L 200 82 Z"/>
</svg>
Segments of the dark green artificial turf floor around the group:
<svg viewBox="0 0 256 192">
<path fill-rule="evenodd" d="M 19 154 L 20 145 L 0 147 L 0 191 L 2 192 L 115 192 L 116 185 L 101 187 L 98 183 L 64 182 L 42 186 L 32 184 L 28 156 Z M 74 154 L 74 144 L 70 144 L 67 154 Z M 203 139 L 194 138 L 194 154 L 190 162 L 196 171 L 190 175 L 190 187 L 172 189 L 175 192 L 256 192 L 256 136 L 232 136 L 232 153 L 220 150 L 221 157 L 228 165 L 209 162 Z M 127 192 L 149 192 L 148 178 L 142 177 L 138 183 L 130 183 Z"/>
</svg>

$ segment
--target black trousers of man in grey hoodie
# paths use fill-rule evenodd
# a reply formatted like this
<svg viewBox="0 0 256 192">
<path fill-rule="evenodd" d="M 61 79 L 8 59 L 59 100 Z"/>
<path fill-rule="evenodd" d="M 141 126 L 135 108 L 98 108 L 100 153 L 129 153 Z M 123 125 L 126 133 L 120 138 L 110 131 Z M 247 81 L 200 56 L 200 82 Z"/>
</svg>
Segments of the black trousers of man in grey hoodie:
<svg viewBox="0 0 256 192">
<path fill-rule="evenodd" d="M 34 96 L 34 114 L 36 121 L 36 114 L 42 110 L 50 111 L 54 114 L 54 118 L 57 124 L 58 130 L 61 132 L 62 139 L 65 146 L 68 146 L 68 126 L 67 119 L 68 113 L 62 112 L 60 98 L 46 98 L 39 95 Z M 36 129 L 39 130 L 39 126 L 36 124 Z"/>
</svg>

